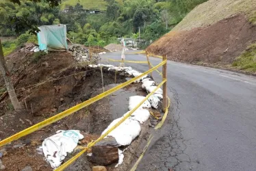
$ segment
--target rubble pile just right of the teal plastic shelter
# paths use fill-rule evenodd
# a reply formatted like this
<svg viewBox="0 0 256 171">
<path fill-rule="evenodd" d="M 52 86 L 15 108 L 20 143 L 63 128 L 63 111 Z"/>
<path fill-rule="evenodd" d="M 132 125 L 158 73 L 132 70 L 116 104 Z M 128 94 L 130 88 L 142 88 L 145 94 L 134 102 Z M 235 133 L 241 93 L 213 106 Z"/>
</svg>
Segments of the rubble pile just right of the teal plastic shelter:
<svg viewBox="0 0 256 171">
<path fill-rule="evenodd" d="M 73 44 L 68 46 L 68 51 L 71 51 L 73 57 L 77 62 L 92 62 L 93 64 L 98 64 L 100 56 L 95 53 L 90 53 L 88 49 L 81 47 L 79 44 Z"/>
</svg>

